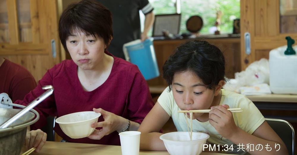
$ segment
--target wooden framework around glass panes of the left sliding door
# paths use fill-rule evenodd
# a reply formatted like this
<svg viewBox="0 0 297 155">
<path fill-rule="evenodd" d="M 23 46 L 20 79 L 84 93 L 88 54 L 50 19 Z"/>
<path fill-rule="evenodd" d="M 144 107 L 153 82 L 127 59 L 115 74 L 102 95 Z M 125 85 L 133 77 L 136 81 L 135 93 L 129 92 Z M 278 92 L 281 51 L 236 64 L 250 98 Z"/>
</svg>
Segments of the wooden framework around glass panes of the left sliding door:
<svg viewBox="0 0 297 155">
<path fill-rule="evenodd" d="M 52 55 L 50 40 L 54 39 L 58 58 L 56 63 L 60 62 L 58 24 L 52 24 L 58 21 L 57 1 L 30 0 L 30 14 L 32 42 L 20 42 L 17 3 L 16 0 L 7 0 L 9 43 L 0 43 L 0 55 Z"/>
</svg>

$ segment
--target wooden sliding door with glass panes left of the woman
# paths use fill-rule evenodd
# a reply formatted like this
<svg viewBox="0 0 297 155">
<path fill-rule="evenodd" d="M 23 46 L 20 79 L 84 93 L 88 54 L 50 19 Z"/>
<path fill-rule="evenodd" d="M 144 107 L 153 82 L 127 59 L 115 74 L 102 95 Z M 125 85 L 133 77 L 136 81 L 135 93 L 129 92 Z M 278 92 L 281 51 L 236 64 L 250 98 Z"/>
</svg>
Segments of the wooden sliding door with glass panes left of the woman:
<svg viewBox="0 0 297 155">
<path fill-rule="evenodd" d="M 0 0 L 0 56 L 35 80 L 61 61 L 56 0 Z"/>
</svg>

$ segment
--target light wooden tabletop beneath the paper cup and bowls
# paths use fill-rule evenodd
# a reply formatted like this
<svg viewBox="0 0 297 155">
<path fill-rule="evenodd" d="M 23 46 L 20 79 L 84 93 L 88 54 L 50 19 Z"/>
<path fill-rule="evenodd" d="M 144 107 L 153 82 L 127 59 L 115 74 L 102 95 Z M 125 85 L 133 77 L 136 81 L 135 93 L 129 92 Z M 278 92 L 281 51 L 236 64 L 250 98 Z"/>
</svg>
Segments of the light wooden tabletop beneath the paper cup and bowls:
<svg viewBox="0 0 297 155">
<path fill-rule="evenodd" d="M 22 149 L 25 152 L 26 148 Z M 121 155 L 121 146 L 98 145 L 83 143 L 62 143 L 47 141 L 39 153 L 44 155 L 67 155 L 67 154 L 87 154 L 87 155 Z M 167 151 L 140 151 L 139 155 L 169 155 Z M 202 152 L 200 155 L 226 155 L 221 153 Z"/>
</svg>

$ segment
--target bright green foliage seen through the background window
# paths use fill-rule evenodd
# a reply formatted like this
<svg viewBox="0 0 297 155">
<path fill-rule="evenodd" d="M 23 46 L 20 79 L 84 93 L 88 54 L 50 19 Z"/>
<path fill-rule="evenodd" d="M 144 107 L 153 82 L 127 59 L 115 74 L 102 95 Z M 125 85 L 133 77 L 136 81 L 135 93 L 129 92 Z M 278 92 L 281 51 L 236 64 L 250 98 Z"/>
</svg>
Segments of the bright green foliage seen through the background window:
<svg viewBox="0 0 297 155">
<path fill-rule="evenodd" d="M 154 7 L 154 13 L 176 13 L 175 0 L 149 0 Z M 233 32 L 233 19 L 240 18 L 240 0 L 181 0 L 181 29 L 180 33 L 188 33 L 186 22 L 192 15 L 203 19 L 200 34 L 209 34 L 209 29 L 214 26 L 217 19 L 217 10 L 222 11 L 220 31 L 221 34 Z"/>
</svg>

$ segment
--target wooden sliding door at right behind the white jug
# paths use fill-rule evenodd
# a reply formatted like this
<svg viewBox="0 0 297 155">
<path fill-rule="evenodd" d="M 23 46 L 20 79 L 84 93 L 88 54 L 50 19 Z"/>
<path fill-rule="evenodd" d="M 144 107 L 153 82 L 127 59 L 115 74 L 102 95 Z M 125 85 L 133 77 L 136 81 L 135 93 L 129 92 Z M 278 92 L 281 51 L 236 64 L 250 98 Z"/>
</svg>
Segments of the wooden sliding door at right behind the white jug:
<svg viewBox="0 0 297 155">
<path fill-rule="evenodd" d="M 292 4 L 287 4 L 293 2 Z M 291 13 L 280 15 L 280 4 L 292 7 Z M 297 2 L 295 2 L 297 3 Z M 297 14 L 294 1 L 287 0 L 241 0 L 241 69 L 253 61 L 269 58 L 269 51 L 287 45 L 286 36 L 297 42 Z M 294 11 L 295 7 L 295 11 Z M 250 34 L 250 54 L 246 53 L 244 34 Z M 295 44 L 296 45 L 296 44 Z"/>
</svg>

